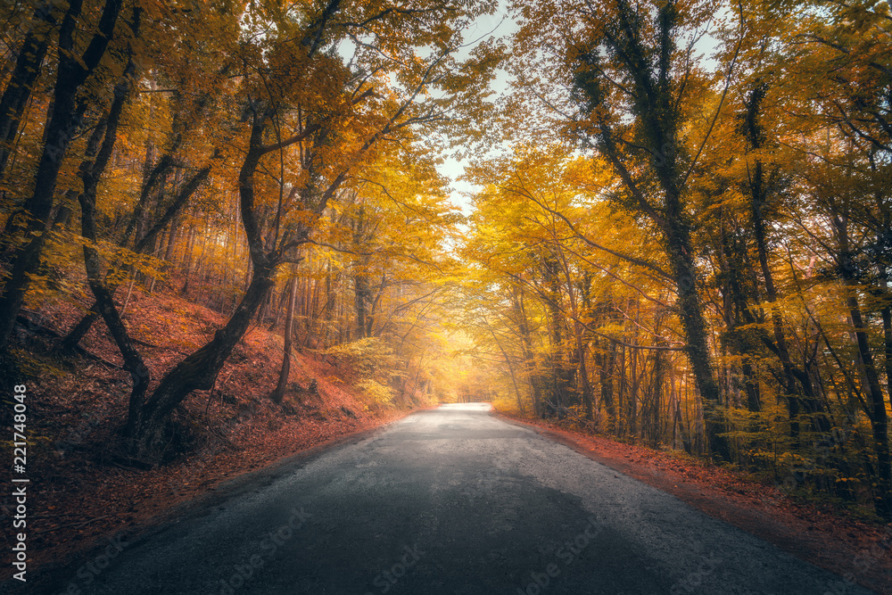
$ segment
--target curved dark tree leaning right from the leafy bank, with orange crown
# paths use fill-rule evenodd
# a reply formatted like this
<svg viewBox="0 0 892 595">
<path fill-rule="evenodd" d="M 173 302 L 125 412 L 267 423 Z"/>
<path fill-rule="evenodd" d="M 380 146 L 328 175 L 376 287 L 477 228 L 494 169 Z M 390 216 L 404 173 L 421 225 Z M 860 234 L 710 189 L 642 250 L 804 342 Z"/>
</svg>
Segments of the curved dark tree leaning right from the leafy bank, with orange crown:
<svg viewBox="0 0 892 595">
<path fill-rule="evenodd" d="M 427 89 L 442 83 L 441 70 L 450 65 L 448 58 L 459 37 L 458 29 L 451 29 L 450 25 L 455 26 L 473 13 L 447 3 L 369 9 L 333 0 L 304 15 L 305 20 L 296 24 L 275 21 L 276 13 L 265 13 L 265 8 L 261 6 L 253 14 L 255 27 L 263 28 L 263 35 L 260 30 L 246 32 L 246 35 L 257 35 L 256 44 L 267 46 L 265 61 L 249 62 L 249 58 L 256 59 L 254 51 L 260 49 L 258 45 L 242 49 L 246 67 L 243 101 L 248 130 L 238 173 L 238 192 L 252 260 L 251 283 L 227 325 L 216 332 L 213 340 L 161 378 L 145 402 L 131 406 L 136 418 L 128 421 L 128 427 L 135 428 L 129 439 L 139 458 L 158 451 L 169 413 L 188 393 L 211 388 L 223 362 L 244 335 L 260 304 L 267 299 L 278 265 L 294 261 L 293 250 L 310 241 L 314 222 L 351 171 L 382 139 L 443 118 L 443 110 L 449 103 L 442 99 L 427 102 L 420 99 Z M 268 22 L 274 27 L 268 27 Z M 414 35 L 407 43 L 403 36 L 409 33 Z M 367 34 L 371 38 L 359 37 Z M 323 47 L 345 37 L 357 43 L 358 64 L 363 63 L 363 58 L 374 57 L 368 70 L 351 71 L 334 55 L 321 53 Z M 389 47 L 405 55 L 382 62 L 378 52 L 386 44 L 394 44 Z M 416 53 L 416 47 L 425 44 L 437 47 L 427 61 Z M 387 52 L 383 54 L 386 56 Z M 391 98 L 384 96 L 383 89 L 376 92 L 375 88 L 376 81 L 385 80 L 387 71 L 392 71 L 403 87 L 403 93 L 399 89 L 387 92 Z M 460 94 L 462 87 L 446 90 Z M 297 106 L 296 110 L 290 109 L 292 104 Z M 291 125 L 293 134 L 285 136 L 283 122 L 286 117 L 295 116 Z M 358 130 L 359 135 L 348 134 L 350 128 Z M 275 142 L 268 141 L 268 136 L 274 136 Z M 293 219 L 288 219 L 288 207 L 296 205 L 285 203 L 282 152 L 312 137 L 325 139 L 317 146 L 325 149 L 320 153 L 324 155 L 321 166 L 326 171 L 312 172 L 322 175 L 325 186 L 316 186 L 315 176 L 304 178 L 304 184 L 316 187 L 308 187 L 307 193 L 297 193 L 310 200 L 299 205 Z M 331 151 L 332 144 L 340 153 Z M 276 155 L 281 176 L 276 185 L 277 203 L 272 203 L 275 206 L 268 211 L 272 216 L 264 219 L 266 196 L 258 173 L 267 170 L 269 160 Z"/>
</svg>

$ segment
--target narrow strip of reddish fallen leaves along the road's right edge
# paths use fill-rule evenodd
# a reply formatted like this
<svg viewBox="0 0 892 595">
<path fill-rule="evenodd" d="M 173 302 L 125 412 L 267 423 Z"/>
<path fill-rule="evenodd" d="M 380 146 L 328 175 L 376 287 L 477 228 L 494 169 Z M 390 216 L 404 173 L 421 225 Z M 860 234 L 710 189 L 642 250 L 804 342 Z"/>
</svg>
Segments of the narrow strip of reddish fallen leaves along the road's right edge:
<svg viewBox="0 0 892 595">
<path fill-rule="evenodd" d="M 780 550 L 839 574 L 838 590 L 857 583 L 892 595 L 892 525 L 855 518 L 830 505 L 801 501 L 780 487 L 687 456 L 616 442 L 556 422 L 499 415 L 533 426 L 596 460 L 720 518 Z M 824 594 L 827 595 L 827 594 Z"/>
</svg>

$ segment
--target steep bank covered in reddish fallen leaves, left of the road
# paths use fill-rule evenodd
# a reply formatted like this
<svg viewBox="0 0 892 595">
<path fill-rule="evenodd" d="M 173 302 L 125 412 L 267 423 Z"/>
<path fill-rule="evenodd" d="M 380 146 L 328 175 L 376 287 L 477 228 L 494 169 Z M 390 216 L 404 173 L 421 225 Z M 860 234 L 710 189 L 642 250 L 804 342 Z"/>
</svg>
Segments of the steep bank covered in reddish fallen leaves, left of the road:
<svg viewBox="0 0 892 595">
<path fill-rule="evenodd" d="M 83 351 L 54 351 L 82 315 L 76 304 L 56 302 L 26 311 L 16 328 L 21 371 L 12 382 L 29 392 L 28 555 L 37 575 L 41 566 L 76 561 L 96 542 L 152 525 L 218 483 L 409 413 L 369 404 L 351 387 L 349 370 L 309 353 L 294 356 L 285 404 L 276 405 L 267 395 L 277 383 L 283 339 L 267 323 L 236 345 L 211 391 L 192 393 L 175 412 L 179 434 L 172 446 L 180 454 L 165 465 L 133 468 L 116 439 L 130 378 L 102 321 L 81 341 Z M 126 320 L 152 386 L 226 322 L 176 293 L 138 291 Z M 12 496 L 0 502 L 2 523 L 11 525 Z M 11 551 L 12 534 L 4 532 L 4 541 Z"/>
</svg>

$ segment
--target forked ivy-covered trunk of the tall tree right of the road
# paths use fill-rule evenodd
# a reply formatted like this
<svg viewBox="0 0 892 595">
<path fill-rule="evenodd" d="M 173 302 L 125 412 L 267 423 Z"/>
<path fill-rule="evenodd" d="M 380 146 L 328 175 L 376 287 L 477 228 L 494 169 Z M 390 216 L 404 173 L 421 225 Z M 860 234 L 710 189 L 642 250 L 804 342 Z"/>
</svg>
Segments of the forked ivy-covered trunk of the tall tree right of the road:
<svg viewBox="0 0 892 595">
<path fill-rule="evenodd" d="M 728 441 L 721 435 L 721 393 L 713 374 L 706 319 L 697 289 L 698 269 L 690 239 L 689 215 L 682 201 L 690 171 L 681 159 L 685 146 L 681 141 L 681 99 L 676 96 L 684 86 L 673 80 L 678 74 L 673 68 L 673 58 L 677 54 L 679 7 L 674 2 L 665 2 L 647 15 L 637 4 L 619 2 L 613 8 L 615 21 L 607 23 L 601 37 L 591 40 L 589 51 L 580 54 L 574 86 L 585 97 L 584 107 L 593 119 L 591 135 L 600 152 L 613 165 L 640 213 L 662 232 L 671 277 L 678 290 L 676 306 L 686 339 L 684 349 L 703 401 L 706 440 L 714 456 L 730 460 Z M 647 19 L 652 20 L 653 29 L 645 35 L 642 27 Z M 600 62 L 605 58 L 601 45 L 607 45 L 610 50 L 607 54 L 612 54 L 607 58 L 629 75 L 628 99 L 632 102 L 632 113 L 628 115 L 637 120 L 635 129 L 640 131 L 634 144 L 644 144 L 648 156 L 640 165 L 646 163 L 653 183 L 661 190 L 661 200 L 654 201 L 641 186 L 640 179 L 632 175 L 625 145 L 629 139 L 617 132 L 615 122 L 607 115 L 607 87 L 613 83 L 602 76 L 605 70 Z"/>
</svg>

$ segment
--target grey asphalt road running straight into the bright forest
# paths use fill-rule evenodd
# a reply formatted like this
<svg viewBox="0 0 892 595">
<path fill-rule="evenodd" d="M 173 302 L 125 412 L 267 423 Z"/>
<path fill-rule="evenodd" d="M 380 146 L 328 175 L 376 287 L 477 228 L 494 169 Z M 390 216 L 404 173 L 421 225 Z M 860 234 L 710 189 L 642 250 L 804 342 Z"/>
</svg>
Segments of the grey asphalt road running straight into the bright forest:
<svg viewBox="0 0 892 595">
<path fill-rule="evenodd" d="M 223 492 L 51 592 L 869 592 L 487 405 L 416 413 Z"/>
</svg>

